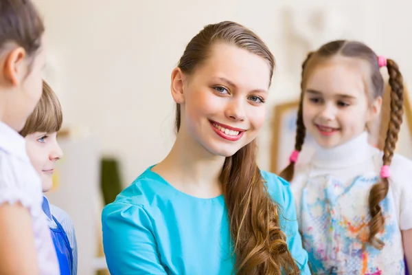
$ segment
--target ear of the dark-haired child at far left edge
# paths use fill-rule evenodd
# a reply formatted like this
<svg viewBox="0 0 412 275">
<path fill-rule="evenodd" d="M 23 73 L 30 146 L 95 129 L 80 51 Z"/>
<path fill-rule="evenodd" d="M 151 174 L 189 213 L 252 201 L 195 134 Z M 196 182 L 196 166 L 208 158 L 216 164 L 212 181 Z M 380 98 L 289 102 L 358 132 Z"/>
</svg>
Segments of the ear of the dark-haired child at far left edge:
<svg viewBox="0 0 412 275">
<path fill-rule="evenodd" d="M 25 66 L 23 66 L 25 56 L 23 47 L 16 47 L 5 59 L 4 76 L 12 85 L 19 85 L 25 76 Z"/>
</svg>

